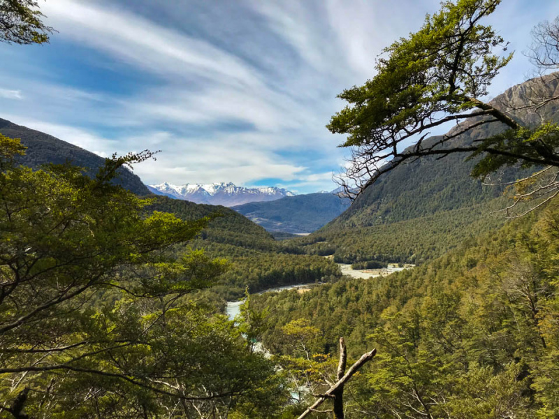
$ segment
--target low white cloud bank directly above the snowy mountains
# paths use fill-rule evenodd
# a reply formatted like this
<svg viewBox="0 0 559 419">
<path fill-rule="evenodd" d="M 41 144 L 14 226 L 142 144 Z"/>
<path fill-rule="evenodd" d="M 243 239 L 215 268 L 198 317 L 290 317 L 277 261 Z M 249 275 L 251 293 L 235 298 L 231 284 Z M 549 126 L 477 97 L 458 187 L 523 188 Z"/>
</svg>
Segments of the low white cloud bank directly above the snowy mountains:
<svg viewBox="0 0 559 419">
<path fill-rule="evenodd" d="M 307 170 L 304 166 L 289 163 L 270 150 L 256 149 L 251 143 L 238 142 L 234 138 L 205 142 L 159 131 L 112 140 L 85 128 L 52 124 L 17 115 L 3 117 L 15 124 L 49 133 L 102 157 L 114 152 L 122 155 L 131 151 L 138 152 L 140 149 L 161 149 L 156 160 L 145 161 L 134 168 L 136 175 L 146 184 L 162 181 L 175 184 L 227 181 L 242 185 L 264 177 L 289 182 L 298 179 L 299 174 Z"/>
</svg>

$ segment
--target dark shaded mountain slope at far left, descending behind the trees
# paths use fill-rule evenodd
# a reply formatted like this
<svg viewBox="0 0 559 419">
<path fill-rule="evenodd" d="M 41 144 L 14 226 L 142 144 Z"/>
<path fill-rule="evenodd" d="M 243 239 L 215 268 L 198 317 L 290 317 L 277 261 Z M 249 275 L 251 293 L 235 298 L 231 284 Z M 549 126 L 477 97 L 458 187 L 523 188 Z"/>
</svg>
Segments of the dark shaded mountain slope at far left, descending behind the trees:
<svg viewBox="0 0 559 419">
<path fill-rule="evenodd" d="M 69 162 L 73 166 L 85 168 L 88 175 L 94 175 L 105 163 L 105 159 L 97 156 L 97 154 L 59 140 L 52 135 L 41 133 L 41 131 L 13 124 L 6 119 L 0 118 L 0 133 L 10 138 L 20 138 L 22 140 L 22 144 L 27 147 L 27 150 L 24 156 L 20 156 L 19 161 L 30 168 L 38 169 L 41 165 L 48 163 L 63 164 Z M 140 178 L 128 168 L 119 170 L 115 182 L 138 195 L 148 195 L 150 193 Z"/>
</svg>

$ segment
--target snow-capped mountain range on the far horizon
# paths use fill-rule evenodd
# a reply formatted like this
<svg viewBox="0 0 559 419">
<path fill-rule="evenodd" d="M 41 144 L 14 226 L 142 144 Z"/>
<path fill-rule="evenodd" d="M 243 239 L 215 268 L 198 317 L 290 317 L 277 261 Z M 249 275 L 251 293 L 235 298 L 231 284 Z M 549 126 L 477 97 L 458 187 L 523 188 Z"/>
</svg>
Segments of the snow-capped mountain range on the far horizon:
<svg viewBox="0 0 559 419">
<path fill-rule="evenodd" d="M 185 184 L 177 186 L 164 182 L 148 185 L 152 193 L 170 198 L 189 200 L 197 204 L 224 205 L 233 207 L 246 203 L 262 202 L 295 196 L 295 193 L 276 187 L 245 188 L 231 182 L 214 184 Z"/>
</svg>

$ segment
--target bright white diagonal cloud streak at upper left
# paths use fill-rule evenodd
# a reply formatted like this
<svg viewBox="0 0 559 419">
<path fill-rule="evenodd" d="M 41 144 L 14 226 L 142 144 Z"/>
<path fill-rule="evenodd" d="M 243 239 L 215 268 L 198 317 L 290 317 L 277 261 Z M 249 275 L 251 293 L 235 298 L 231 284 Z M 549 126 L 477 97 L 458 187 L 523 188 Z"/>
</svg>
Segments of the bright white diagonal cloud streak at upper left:
<svg viewBox="0 0 559 419">
<path fill-rule="evenodd" d="M 174 78 L 194 75 L 245 86 L 258 84 L 252 69 L 234 55 L 138 15 L 71 0 L 50 1 L 43 9 L 49 24 L 57 27 L 61 36 L 152 73 Z"/>
</svg>

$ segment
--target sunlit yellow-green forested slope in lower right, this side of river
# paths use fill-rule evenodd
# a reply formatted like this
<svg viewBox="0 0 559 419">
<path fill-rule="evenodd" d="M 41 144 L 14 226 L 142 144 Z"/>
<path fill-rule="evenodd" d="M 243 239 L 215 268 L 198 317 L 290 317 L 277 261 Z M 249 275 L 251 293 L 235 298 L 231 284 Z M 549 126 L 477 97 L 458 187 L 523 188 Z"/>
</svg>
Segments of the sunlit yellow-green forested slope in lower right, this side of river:
<svg viewBox="0 0 559 419">
<path fill-rule="evenodd" d="M 555 200 L 414 270 L 254 296 L 274 307 L 263 341 L 299 357 L 289 331 L 306 325 L 314 353 L 340 336 L 352 357 L 376 347 L 347 390 L 351 418 L 556 418 L 558 231 Z"/>
</svg>

